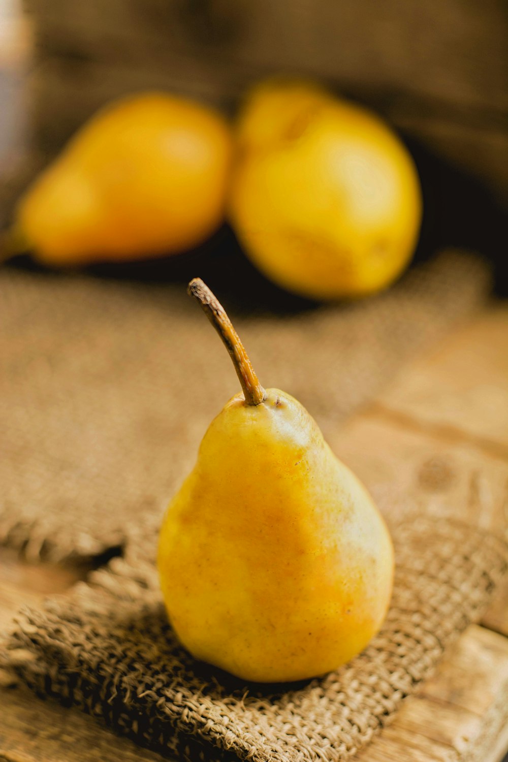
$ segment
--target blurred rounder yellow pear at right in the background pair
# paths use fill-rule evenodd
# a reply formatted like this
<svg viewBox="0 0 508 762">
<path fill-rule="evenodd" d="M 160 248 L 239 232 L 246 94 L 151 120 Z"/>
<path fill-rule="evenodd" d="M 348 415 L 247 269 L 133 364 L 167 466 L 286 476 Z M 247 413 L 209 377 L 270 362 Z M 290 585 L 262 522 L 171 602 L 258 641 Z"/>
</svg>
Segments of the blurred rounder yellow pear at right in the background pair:
<svg viewBox="0 0 508 762">
<path fill-rule="evenodd" d="M 422 201 L 413 159 L 388 124 L 308 82 L 275 79 L 247 98 L 236 139 L 229 216 L 270 280 L 339 299 L 400 276 Z"/>
</svg>

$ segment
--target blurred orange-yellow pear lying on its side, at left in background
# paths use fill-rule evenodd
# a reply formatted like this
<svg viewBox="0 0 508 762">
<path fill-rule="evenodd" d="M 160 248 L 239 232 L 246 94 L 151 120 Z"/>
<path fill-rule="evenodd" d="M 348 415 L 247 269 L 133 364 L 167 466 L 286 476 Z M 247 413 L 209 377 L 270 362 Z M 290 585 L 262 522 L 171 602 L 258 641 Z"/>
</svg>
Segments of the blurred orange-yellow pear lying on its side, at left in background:
<svg viewBox="0 0 508 762">
<path fill-rule="evenodd" d="M 224 217 L 232 153 L 215 110 L 169 93 L 101 109 L 21 197 L 13 241 L 56 267 L 178 253 Z"/>
</svg>

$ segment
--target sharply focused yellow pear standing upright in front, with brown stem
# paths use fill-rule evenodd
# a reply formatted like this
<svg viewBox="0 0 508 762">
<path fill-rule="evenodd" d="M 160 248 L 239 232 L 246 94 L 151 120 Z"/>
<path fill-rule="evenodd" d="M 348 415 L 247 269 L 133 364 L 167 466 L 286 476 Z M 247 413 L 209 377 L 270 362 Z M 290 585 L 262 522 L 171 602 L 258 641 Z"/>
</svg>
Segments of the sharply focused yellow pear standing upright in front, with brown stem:
<svg viewBox="0 0 508 762">
<path fill-rule="evenodd" d="M 203 281 L 189 290 L 222 336 L 243 392 L 210 424 L 162 523 L 169 619 L 193 656 L 244 680 L 324 674 L 382 625 L 394 569 L 388 530 L 305 408 L 260 386 Z"/>
</svg>

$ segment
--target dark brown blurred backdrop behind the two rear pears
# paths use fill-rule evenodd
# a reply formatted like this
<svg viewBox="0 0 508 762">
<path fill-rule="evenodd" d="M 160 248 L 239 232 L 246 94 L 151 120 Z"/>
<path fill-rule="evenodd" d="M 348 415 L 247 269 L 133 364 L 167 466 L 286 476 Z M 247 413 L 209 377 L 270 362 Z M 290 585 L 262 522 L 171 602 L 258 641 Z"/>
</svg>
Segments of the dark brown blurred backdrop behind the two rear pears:
<svg viewBox="0 0 508 762">
<path fill-rule="evenodd" d="M 446 245 L 479 251 L 506 294 L 502 0 L 2 0 L 0 40 L 5 216 L 17 187 L 111 98 L 163 88 L 232 113 L 264 75 L 314 75 L 382 114 L 411 149 L 423 184 L 417 260 Z M 190 255 L 93 272 L 185 281 L 199 271 L 214 287 L 233 260 L 270 309 L 305 306 L 254 271 L 228 228 Z"/>
</svg>

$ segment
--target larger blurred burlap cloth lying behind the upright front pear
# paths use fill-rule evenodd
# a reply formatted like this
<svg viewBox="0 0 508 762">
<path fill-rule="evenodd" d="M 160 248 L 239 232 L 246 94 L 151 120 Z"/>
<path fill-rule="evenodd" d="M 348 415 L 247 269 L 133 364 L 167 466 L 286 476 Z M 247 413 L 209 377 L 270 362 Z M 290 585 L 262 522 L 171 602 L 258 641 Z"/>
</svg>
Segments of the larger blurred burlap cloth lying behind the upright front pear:
<svg viewBox="0 0 508 762">
<path fill-rule="evenodd" d="M 261 383 L 299 399 L 326 437 L 488 284 L 479 258 L 446 251 L 365 302 L 232 316 Z M 0 357 L 0 542 L 30 559 L 149 555 L 206 427 L 239 389 L 184 286 L 4 268 Z"/>
</svg>

